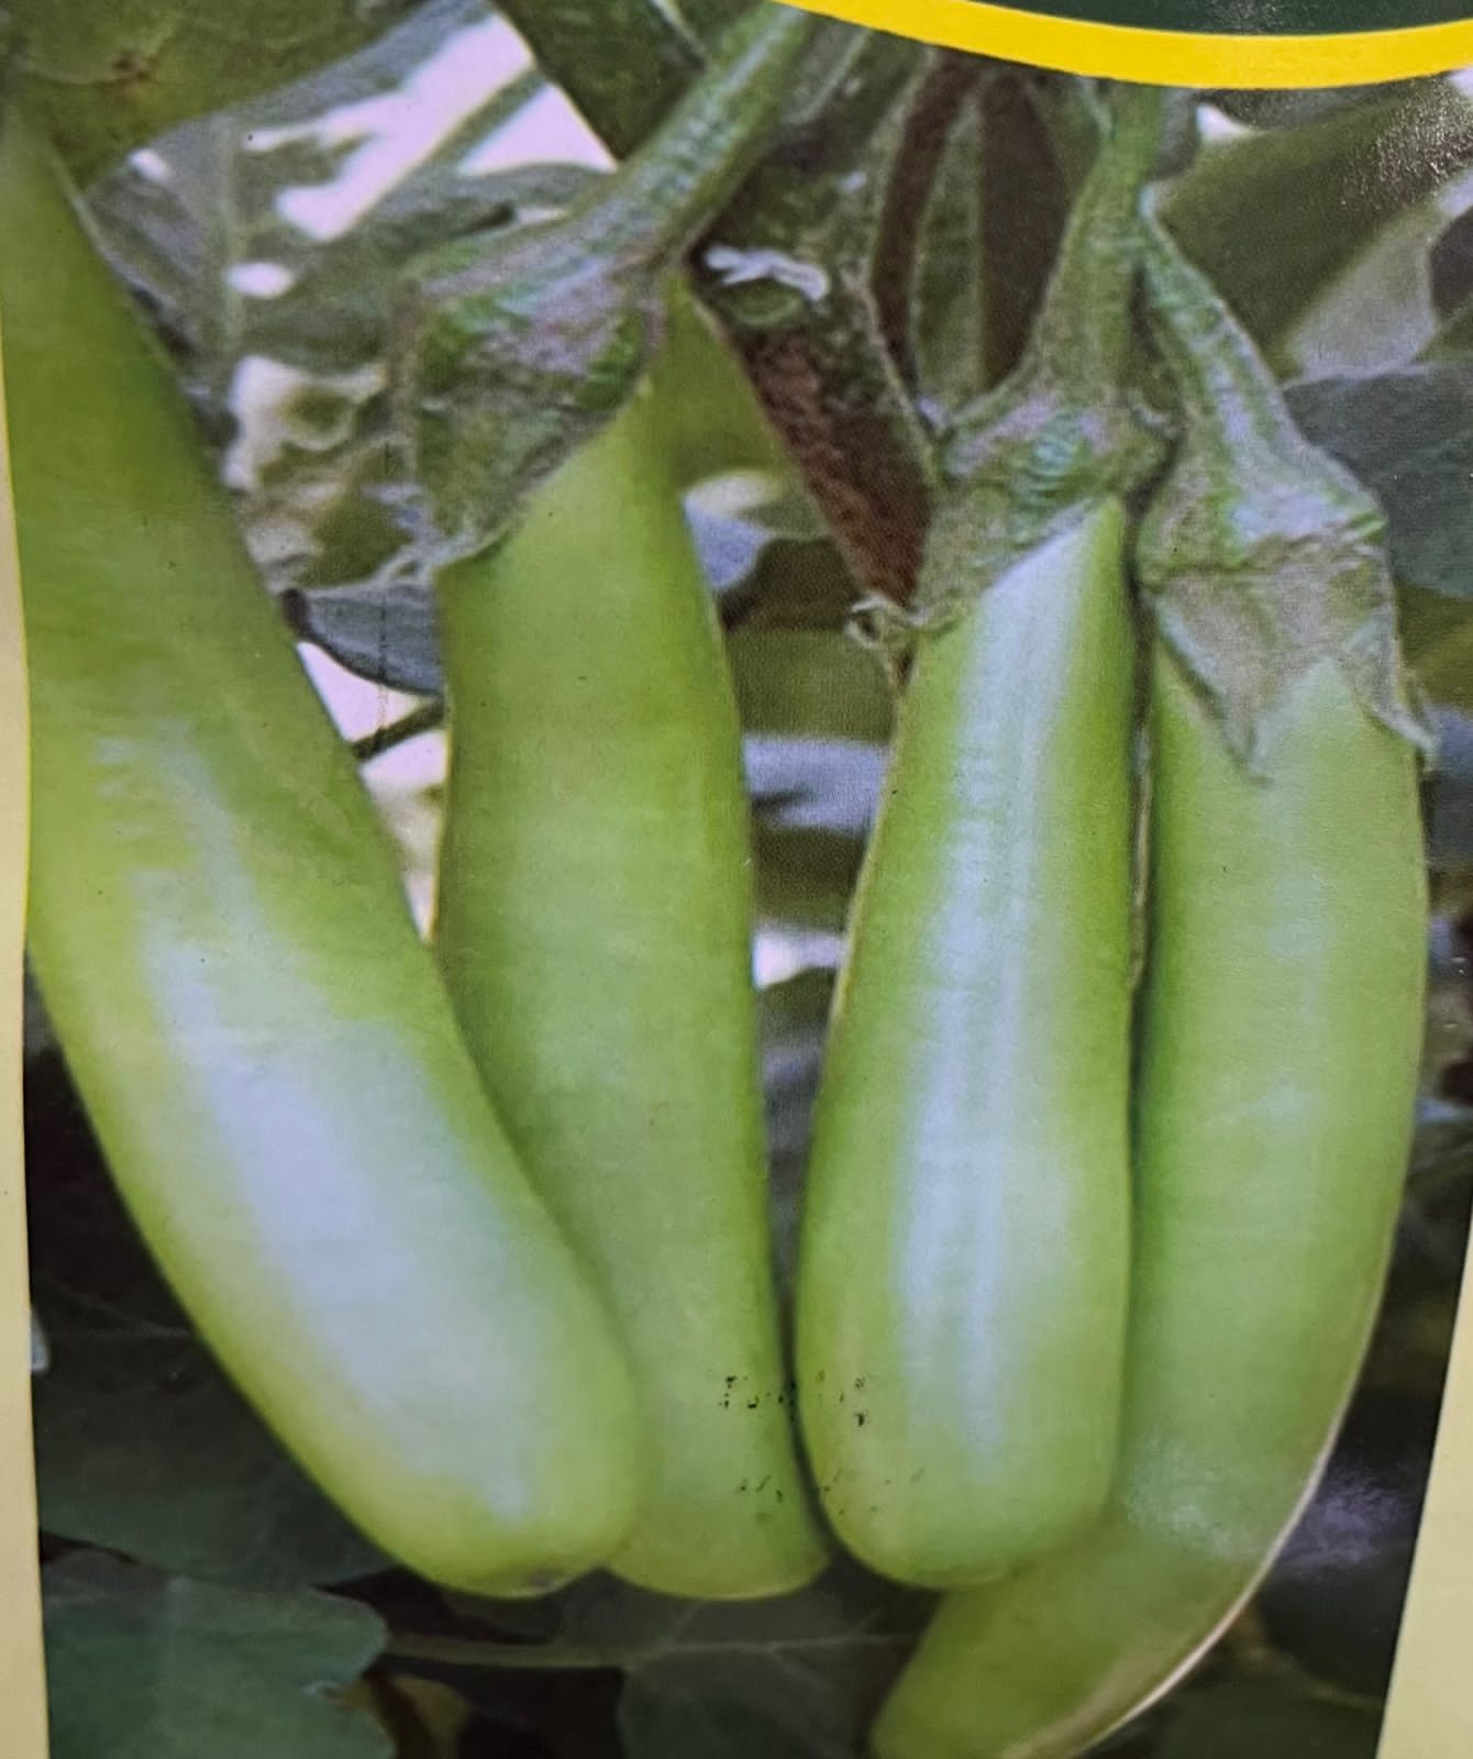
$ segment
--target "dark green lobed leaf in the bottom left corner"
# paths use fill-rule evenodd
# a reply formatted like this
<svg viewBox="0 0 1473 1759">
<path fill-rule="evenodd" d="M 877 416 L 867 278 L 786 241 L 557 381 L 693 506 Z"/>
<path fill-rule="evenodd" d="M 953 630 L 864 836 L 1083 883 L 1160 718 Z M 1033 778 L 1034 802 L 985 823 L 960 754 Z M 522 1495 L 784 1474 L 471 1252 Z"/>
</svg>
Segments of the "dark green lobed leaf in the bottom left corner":
<svg viewBox="0 0 1473 1759">
<path fill-rule="evenodd" d="M 79 1553 L 44 1574 L 51 1759 L 390 1759 L 334 1703 L 383 1648 L 366 1606 Z"/>
</svg>

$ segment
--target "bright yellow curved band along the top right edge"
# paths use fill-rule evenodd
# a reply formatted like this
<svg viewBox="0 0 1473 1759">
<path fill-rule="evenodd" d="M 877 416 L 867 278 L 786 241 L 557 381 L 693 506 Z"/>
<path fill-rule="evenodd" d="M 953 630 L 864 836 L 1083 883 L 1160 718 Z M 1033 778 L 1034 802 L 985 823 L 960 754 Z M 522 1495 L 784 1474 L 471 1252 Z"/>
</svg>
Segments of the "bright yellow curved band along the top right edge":
<svg viewBox="0 0 1473 1759">
<path fill-rule="evenodd" d="M 1028 62 L 1065 74 L 1134 79 L 1146 86 L 1280 90 L 1362 86 L 1473 67 L 1473 19 L 1410 30 L 1327 32 L 1304 37 L 1139 30 L 1049 18 L 984 0 L 784 0 L 946 49 Z"/>
</svg>

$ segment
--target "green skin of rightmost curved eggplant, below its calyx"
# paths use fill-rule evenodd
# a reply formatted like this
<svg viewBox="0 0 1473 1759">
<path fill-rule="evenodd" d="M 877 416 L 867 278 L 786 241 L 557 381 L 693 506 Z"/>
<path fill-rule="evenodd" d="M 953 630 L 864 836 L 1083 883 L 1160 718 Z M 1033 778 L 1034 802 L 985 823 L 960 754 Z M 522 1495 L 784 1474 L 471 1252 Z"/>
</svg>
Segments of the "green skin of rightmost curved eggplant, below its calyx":
<svg viewBox="0 0 1473 1759">
<path fill-rule="evenodd" d="M 1410 1152 L 1417 756 L 1320 661 L 1250 776 L 1158 649 L 1123 1469 L 1102 1529 L 944 1602 L 879 1759 L 1074 1759 L 1255 1590 L 1332 1446 Z"/>
</svg>

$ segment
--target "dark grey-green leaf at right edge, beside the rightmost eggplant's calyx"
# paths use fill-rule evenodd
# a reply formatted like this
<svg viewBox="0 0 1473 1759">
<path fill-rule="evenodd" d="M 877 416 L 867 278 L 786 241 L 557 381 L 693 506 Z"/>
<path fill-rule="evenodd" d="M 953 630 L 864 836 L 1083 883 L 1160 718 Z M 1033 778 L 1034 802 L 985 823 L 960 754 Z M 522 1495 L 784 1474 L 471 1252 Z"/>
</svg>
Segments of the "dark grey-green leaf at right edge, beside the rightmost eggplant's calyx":
<svg viewBox="0 0 1473 1759">
<path fill-rule="evenodd" d="M 1380 498 L 1397 580 L 1473 598 L 1473 364 L 1306 380 L 1288 405 Z"/>
</svg>

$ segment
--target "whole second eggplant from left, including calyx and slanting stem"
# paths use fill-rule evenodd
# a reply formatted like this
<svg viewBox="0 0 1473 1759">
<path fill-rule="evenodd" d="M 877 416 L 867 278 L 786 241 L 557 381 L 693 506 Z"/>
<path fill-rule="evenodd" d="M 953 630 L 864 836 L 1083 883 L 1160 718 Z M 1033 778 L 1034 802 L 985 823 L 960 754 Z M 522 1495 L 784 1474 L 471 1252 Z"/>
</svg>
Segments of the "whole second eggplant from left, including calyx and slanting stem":
<svg viewBox="0 0 1473 1759">
<path fill-rule="evenodd" d="M 613 1567 L 696 1599 L 796 1588 L 826 1546 L 779 1335 L 740 728 L 647 368 L 809 32 L 756 9 L 584 208 L 441 257 L 410 357 L 436 524 L 475 544 L 490 496 L 503 533 L 439 575 L 441 966 L 635 1365 L 652 1463 Z M 446 347 L 478 387 L 448 429 Z"/>
</svg>

